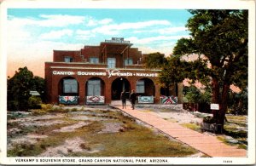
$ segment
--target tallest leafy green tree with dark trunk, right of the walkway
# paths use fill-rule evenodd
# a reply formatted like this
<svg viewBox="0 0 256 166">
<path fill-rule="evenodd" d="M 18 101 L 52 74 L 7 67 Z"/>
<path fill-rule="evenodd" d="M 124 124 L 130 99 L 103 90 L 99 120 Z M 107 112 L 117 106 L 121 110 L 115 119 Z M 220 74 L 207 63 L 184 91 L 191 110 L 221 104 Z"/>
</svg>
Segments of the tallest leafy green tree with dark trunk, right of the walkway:
<svg viewBox="0 0 256 166">
<path fill-rule="evenodd" d="M 177 41 L 173 54 L 198 54 L 191 62 L 189 78 L 212 85 L 212 103 L 220 109 L 213 113 L 217 123 L 224 124 L 229 89 L 235 84 L 247 87 L 247 10 L 189 10 L 193 16 L 187 27 L 190 38 Z M 201 58 L 203 57 L 205 58 Z M 210 64 L 211 67 L 207 67 Z M 200 67 L 199 67 L 200 66 Z M 209 82 L 209 80 L 211 80 Z"/>
</svg>

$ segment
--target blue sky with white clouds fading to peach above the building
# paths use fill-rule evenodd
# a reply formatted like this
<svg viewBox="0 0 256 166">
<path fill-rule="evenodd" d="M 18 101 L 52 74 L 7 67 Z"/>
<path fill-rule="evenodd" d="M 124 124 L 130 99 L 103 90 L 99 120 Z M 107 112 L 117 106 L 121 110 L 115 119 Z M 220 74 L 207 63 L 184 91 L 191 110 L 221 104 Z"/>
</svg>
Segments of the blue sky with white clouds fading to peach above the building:
<svg viewBox="0 0 256 166">
<path fill-rule="evenodd" d="M 143 54 L 172 54 L 191 14 L 184 9 L 8 9 L 7 76 L 27 66 L 44 77 L 53 50 L 79 50 L 124 37 Z"/>
</svg>

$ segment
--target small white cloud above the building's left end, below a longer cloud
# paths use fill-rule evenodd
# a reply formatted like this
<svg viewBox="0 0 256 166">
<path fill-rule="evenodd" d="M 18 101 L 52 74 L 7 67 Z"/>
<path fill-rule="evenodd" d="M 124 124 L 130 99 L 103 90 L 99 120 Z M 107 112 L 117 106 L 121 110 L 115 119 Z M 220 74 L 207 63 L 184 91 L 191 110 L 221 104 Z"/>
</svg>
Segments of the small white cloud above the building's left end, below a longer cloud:
<svg viewBox="0 0 256 166">
<path fill-rule="evenodd" d="M 73 30 L 60 30 L 60 31 L 49 31 L 47 33 L 43 33 L 40 38 L 41 39 L 59 39 L 64 36 L 72 36 Z"/>
</svg>

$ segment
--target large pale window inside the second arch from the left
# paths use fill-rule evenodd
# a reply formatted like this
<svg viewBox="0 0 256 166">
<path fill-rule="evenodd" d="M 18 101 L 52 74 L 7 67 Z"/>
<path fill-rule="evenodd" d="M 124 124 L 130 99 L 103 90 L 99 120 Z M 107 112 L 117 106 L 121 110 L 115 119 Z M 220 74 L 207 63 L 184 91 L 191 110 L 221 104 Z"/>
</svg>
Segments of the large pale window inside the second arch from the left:
<svg viewBox="0 0 256 166">
<path fill-rule="evenodd" d="M 89 80 L 87 83 L 87 96 L 101 95 L 101 80 Z"/>
</svg>

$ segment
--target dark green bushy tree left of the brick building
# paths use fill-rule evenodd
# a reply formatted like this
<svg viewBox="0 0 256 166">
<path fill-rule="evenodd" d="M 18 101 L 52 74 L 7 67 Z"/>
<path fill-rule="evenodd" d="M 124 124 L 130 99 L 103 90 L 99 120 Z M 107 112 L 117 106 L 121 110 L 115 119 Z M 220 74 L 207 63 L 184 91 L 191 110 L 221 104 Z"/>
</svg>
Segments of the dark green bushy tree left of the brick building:
<svg viewBox="0 0 256 166">
<path fill-rule="evenodd" d="M 27 110 L 30 91 L 44 91 L 43 80 L 41 77 L 33 77 L 33 73 L 26 66 L 19 68 L 19 72 L 15 72 L 7 82 L 8 110 Z"/>
</svg>

